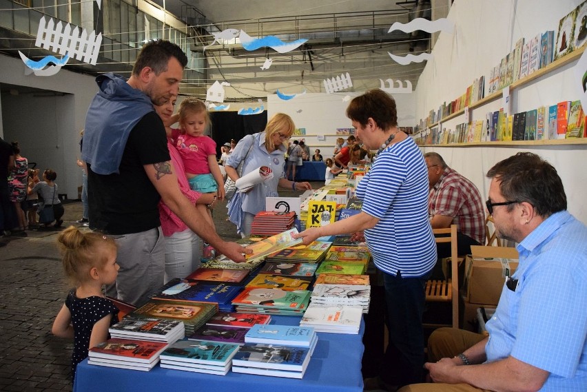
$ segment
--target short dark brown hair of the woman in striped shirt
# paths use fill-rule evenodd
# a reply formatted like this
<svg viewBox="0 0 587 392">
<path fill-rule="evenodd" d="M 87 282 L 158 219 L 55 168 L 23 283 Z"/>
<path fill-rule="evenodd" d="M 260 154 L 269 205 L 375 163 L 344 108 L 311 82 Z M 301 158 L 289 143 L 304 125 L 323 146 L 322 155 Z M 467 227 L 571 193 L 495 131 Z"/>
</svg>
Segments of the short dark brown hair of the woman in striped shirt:
<svg viewBox="0 0 587 392">
<path fill-rule="evenodd" d="M 370 90 L 355 97 L 347 107 L 347 117 L 362 126 L 367 125 L 369 118 L 373 118 L 382 130 L 389 130 L 398 125 L 395 100 L 380 89 Z"/>
</svg>

